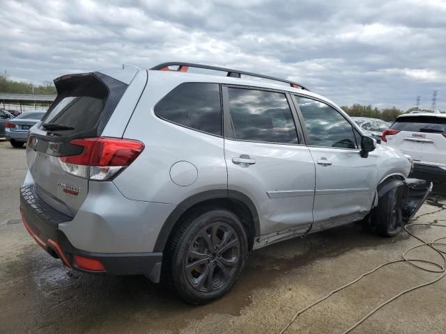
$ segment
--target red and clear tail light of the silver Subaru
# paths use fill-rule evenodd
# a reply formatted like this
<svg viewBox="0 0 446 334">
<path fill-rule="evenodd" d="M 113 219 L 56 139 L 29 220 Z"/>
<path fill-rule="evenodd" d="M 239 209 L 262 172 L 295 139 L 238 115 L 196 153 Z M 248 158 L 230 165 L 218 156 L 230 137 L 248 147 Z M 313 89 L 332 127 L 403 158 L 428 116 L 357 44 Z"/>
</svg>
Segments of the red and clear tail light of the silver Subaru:
<svg viewBox="0 0 446 334">
<path fill-rule="evenodd" d="M 63 170 L 89 180 L 111 180 L 130 166 L 144 150 L 140 141 L 121 138 L 79 138 L 70 141 L 82 146 L 80 154 L 59 157 Z"/>
</svg>

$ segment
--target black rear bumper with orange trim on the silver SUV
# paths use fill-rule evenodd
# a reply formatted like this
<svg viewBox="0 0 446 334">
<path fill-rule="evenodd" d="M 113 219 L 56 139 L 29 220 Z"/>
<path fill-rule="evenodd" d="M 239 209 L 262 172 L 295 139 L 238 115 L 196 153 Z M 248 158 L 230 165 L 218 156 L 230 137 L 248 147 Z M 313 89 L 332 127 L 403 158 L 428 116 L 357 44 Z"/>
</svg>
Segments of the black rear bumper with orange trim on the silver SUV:
<svg viewBox="0 0 446 334">
<path fill-rule="evenodd" d="M 20 189 L 20 212 L 29 234 L 47 253 L 61 259 L 66 267 L 89 273 L 143 274 L 154 283 L 160 281 L 162 253 L 91 253 L 72 246 L 66 234 L 59 230 L 59 224 L 71 218 L 40 200 L 33 191 L 33 185 L 25 185 Z M 82 262 L 77 260 L 79 257 L 96 260 L 103 265 L 103 269 L 80 267 L 82 264 L 79 266 L 79 263 Z"/>
</svg>

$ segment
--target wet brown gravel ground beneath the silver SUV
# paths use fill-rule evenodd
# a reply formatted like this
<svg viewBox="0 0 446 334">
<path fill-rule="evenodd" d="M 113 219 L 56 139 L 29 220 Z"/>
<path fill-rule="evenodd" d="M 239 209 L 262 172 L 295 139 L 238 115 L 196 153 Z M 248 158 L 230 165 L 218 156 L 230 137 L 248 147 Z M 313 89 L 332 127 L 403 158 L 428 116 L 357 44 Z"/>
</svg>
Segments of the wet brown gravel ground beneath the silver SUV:
<svg viewBox="0 0 446 334">
<path fill-rule="evenodd" d="M 418 243 L 385 239 L 355 224 L 256 250 L 223 299 L 192 307 L 146 278 L 91 276 L 63 267 L 29 236 L 18 189 L 24 149 L 0 139 L 0 333 L 279 333 L 294 313 Z M 445 223 L 423 205 L 415 221 Z M 426 239 L 441 228 L 416 228 Z M 422 248 L 417 257 L 438 258 Z M 286 333 L 342 333 L 376 305 L 438 274 L 393 264 L 300 315 Z M 352 333 L 445 333 L 446 278 L 385 306 Z"/>
</svg>

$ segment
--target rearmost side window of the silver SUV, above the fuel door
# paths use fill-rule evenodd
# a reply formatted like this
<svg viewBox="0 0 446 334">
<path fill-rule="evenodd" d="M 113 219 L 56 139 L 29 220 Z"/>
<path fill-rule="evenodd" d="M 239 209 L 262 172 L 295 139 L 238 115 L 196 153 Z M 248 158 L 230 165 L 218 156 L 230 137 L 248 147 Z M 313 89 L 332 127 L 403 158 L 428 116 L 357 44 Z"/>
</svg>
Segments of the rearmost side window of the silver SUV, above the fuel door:
<svg viewBox="0 0 446 334">
<path fill-rule="evenodd" d="M 184 127 L 221 136 L 220 88 L 218 84 L 180 84 L 157 103 L 155 115 Z"/>
</svg>

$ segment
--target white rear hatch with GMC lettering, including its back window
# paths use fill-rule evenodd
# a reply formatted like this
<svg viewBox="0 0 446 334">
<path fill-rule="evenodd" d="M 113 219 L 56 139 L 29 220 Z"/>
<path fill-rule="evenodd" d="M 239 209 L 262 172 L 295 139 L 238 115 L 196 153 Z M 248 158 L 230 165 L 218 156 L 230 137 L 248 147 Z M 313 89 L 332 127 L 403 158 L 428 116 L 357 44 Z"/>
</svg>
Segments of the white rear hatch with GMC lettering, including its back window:
<svg viewBox="0 0 446 334">
<path fill-rule="evenodd" d="M 446 117 L 443 115 L 401 116 L 387 133 L 390 133 L 385 136 L 388 145 L 409 154 L 414 161 L 446 164 Z"/>
</svg>

